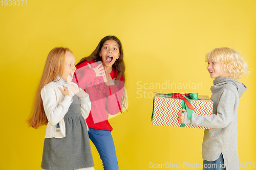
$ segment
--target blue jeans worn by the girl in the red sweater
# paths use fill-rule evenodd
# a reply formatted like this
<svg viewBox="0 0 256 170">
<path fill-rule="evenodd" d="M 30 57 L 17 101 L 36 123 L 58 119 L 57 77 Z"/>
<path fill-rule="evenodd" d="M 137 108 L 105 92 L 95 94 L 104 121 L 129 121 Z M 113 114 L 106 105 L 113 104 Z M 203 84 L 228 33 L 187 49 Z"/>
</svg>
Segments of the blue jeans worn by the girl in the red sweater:
<svg viewBox="0 0 256 170">
<path fill-rule="evenodd" d="M 98 150 L 105 170 L 118 170 L 115 144 L 110 131 L 89 128 L 89 138 Z"/>
</svg>

